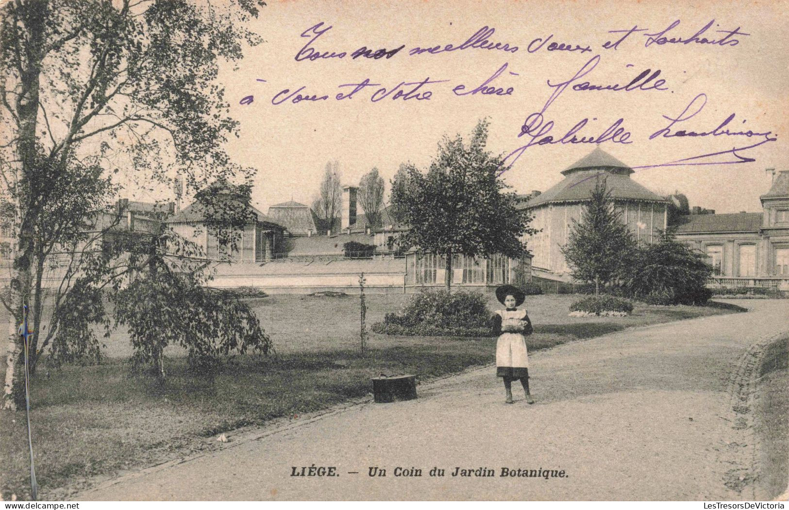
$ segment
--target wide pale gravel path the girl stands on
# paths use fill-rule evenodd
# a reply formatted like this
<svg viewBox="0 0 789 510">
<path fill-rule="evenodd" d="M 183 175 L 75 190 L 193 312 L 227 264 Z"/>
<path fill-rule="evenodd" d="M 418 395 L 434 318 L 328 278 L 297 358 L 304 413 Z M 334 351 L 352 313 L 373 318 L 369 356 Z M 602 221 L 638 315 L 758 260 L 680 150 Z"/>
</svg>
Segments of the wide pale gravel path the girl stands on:
<svg viewBox="0 0 789 510">
<path fill-rule="evenodd" d="M 755 367 L 789 300 L 638 328 L 531 357 L 537 403 L 486 368 L 419 399 L 346 407 L 230 437 L 228 448 L 125 475 L 74 500 L 742 500 L 757 484 Z M 333 466 L 338 477 L 294 477 Z M 370 467 L 386 470 L 370 477 Z M 395 468 L 421 477 L 394 476 Z M 430 476 L 433 467 L 445 476 Z M 451 476 L 456 467 L 495 476 Z M 502 468 L 564 478 L 501 477 Z M 350 474 L 349 471 L 358 471 Z"/>
</svg>

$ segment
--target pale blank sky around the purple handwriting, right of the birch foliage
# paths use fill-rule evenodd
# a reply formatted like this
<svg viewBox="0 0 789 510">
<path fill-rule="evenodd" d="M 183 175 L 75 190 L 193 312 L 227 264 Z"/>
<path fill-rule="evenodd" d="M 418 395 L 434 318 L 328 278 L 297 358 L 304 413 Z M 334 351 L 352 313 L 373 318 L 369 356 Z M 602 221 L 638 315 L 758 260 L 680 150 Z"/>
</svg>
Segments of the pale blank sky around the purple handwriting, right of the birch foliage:
<svg viewBox="0 0 789 510">
<path fill-rule="evenodd" d="M 546 81 L 567 81 L 595 55 L 600 62 L 577 82 L 627 84 L 641 71 L 660 69 L 664 91 L 574 91 L 567 88 L 545 111 L 552 120 L 551 134 L 561 137 L 574 124 L 589 118 L 579 136 L 597 136 L 617 119 L 630 131 L 630 144 L 605 142 L 600 147 L 630 166 L 666 163 L 675 159 L 727 151 L 761 141 L 764 137 L 658 138 L 649 135 L 668 126 L 662 115 L 679 116 L 699 94 L 703 111 L 675 129 L 705 132 L 729 114 L 732 130 L 777 133 L 769 142 L 743 156 L 753 163 L 708 167 L 659 167 L 633 175 L 658 193 L 675 189 L 686 193 L 691 205 L 716 212 L 761 209 L 759 195 L 769 188 L 765 168 L 789 170 L 787 164 L 787 3 L 781 2 L 269 2 L 250 28 L 265 43 L 247 49 L 236 70 L 227 66 L 220 76 L 226 87 L 231 114 L 241 122 L 241 137 L 229 146 L 237 163 L 258 171 L 253 201 L 264 211 L 271 204 L 290 200 L 310 204 L 329 159 L 338 159 L 345 184 L 356 185 L 372 167 L 383 178 L 394 175 L 400 163 L 424 168 L 436 154 L 443 134 L 468 136 L 478 119 L 491 122 L 488 149 L 508 153 L 527 141 L 518 138 L 527 115 L 540 111 L 554 91 Z M 680 24 L 667 37 L 687 39 L 714 19 L 703 36 L 720 39 L 739 28 L 749 36 L 735 46 L 709 44 L 653 44 L 645 47 L 643 33 L 656 33 L 673 21 Z M 301 32 L 320 21 L 331 29 L 311 47 L 317 51 L 346 51 L 345 58 L 296 62 L 295 55 L 308 38 Z M 469 48 L 439 54 L 409 55 L 413 47 L 451 43 L 458 46 L 487 25 L 495 28 L 492 42 L 508 43 L 514 53 Z M 633 33 L 617 50 L 602 44 L 621 35 L 609 30 L 649 28 Z M 533 39 L 546 38 L 589 46 L 592 51 L 529 53 Z M 392 58 L 352 59 L 361 46 L 391 50 L 405 44 Z M 452 89 L 465 84 L 471 90 L 504 64 L 507 69 L 492 82 L 512 87 L 510 96 L 455 96 Z M 631 65 L 631 66 L 629 66 Z M 512 73 L 517 73 L 514 76 Z M 401 81 L 447 80 L 425 85 L 427 100 L 382 99 L 372 92 L 387 90 Z M 365 78 L 380 84 L 357 92 L 351 99 L 335 100 L 339 84 Z M 264 80 L 264 81 L 258 81 Z M 272 105 L 282 89 L 304 86 L 303 93 L 327 95 L 328 100 Z M 409 87 L 410 88 L 410 87 Z M 406 88 L 408 90 L 409 88 Z M 241 105 L 245 96 L 254 103 Z M 391 96 L 390 96 L 391 97 Z M 593 119 L 597 120 L 593 120 Z M 743 123 L 742 121 L 746 122 Z M 552 144 L 528 148 L 506 174 L 518 193 L 545 190 L 562 178 L 562 171 L 595 148 L 595 144 Z M 730 156 L 731 157 L 731 156 Z M 388 186 L 387 186 L 388 188 Z"/>
</svg>

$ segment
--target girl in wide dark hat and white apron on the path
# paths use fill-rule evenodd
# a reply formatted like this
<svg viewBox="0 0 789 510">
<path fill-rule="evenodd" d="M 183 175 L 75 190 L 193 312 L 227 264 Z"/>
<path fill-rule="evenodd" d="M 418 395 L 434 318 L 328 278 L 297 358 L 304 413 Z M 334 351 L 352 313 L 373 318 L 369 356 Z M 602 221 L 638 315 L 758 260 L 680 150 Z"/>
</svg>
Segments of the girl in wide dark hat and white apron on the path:
<svg viewBox="0 0 789 510">
<path fill-rule="evenodd" d="M 532 323 L 525 309 L 518 309 L 526 298 L 525 293 L 513 285 L 502 285 L 495 290 L 496 298 L 506 309 L 496 310 L 493 329 L 499 335 L 495 349 L 496 375 L 504 380 L 507 390 L 506 403 L 513 403 L 512 381 L 520 379 L 526 392 L 526 402 L 534 403 L 529 393 L 529 353 L 524 335 L 533 332 Z"/>
</svg>

